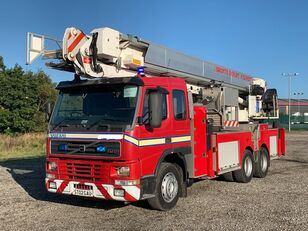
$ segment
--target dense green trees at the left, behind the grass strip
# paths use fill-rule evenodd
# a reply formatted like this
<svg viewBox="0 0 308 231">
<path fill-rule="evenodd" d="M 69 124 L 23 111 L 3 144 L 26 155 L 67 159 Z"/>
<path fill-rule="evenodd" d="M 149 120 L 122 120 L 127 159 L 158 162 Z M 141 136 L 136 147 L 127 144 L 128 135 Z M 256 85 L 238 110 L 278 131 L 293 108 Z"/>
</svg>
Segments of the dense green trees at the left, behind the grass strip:
<svg viewBox="0 0 308 231">
<path fill-rule="evenodd" d="M 47 128 L 45 108 L 54 105 L 55 84 L 43 71 L 24 71 L 4 65 L 0 56 L 0 133 L 16 135 Z"/>
</svg>

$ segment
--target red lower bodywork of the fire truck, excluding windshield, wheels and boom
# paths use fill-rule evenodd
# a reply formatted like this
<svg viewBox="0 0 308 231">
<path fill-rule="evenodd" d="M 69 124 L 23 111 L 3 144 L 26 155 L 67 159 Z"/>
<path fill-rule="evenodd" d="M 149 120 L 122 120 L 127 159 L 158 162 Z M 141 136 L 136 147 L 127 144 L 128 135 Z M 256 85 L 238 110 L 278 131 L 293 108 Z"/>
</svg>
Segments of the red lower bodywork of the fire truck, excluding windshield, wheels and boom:
<svg viewBox="0 0 308 231">
<path fill-rule="evenodd" d="M 194 178 L 214 178 L 243 168 L 246 150 L 258 154 L 266 150 L 268 160 L 285 154 L 285 133 L 268 124 L 243 125 L 238 130 L 211 131 L 207 109 L 189 101 L 186 82 L 176 77 L 135 77 L 142 81 L 133 126 L 124 132 L 50 130 L 47 139 L 46 188 L 49 192 L 96 197 L 107 200 L 137 201 L 155 197 L 162 163 L 175 164 L 181 174 L 179 196 Z M 166 115 L 158 128 L 138 122 L 151 89 L 164 89 Z M 174 95 L 184 95 L 184 115 L 175 118 Z M 182 107 L 182 106 L 181 106 Z M 241 127 L 241 126 L 240 126 Z M 257 130 L 257 131 L 255 131 Z M 115 156 L 63 154 L 59 145 L 87 149 L 89 144 L 117 146 Z M 52 163 L 52 164 L 51 164 Z M 129 170 L 128 170 L 129 169 Z M 124 174 L 119 175 L 119 171 Z M 183 183 L 183 184 L 181 184 Z M 173 184 L 170 184 L 171 186 Z M 170 187 L 171 187 L 170 186 Z"/>
</svg>

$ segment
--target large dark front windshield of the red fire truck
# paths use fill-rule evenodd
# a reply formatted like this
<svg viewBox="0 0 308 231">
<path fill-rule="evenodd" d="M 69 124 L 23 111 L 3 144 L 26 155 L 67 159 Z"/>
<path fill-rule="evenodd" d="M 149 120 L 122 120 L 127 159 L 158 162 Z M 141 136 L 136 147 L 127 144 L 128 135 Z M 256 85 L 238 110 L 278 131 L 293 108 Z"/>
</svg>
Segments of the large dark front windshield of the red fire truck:
<svg viewBox="0 0 308 231">
<path fill-rule="evenodd" d="M 138 87 L 106 85 L 60 92 L 51 130 L 124 131 L 133 123 Z"/>
</svg>

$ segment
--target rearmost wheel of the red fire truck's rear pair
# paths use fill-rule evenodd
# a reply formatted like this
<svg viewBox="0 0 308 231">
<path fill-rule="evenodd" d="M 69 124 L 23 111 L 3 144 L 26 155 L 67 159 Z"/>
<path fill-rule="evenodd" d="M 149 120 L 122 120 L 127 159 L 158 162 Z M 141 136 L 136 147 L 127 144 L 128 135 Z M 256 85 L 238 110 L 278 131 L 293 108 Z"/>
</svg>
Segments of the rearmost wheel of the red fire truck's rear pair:
<svg viewBox="0 0 308 231">
<path fill-rule="evenodd" d="M 257 156 L 257 160 L 254 164 L 254 176 L 258 178 L 264 178 L 267 175 L 270 159 L 266 148 L 260 148 L 260 154 Z"/>
</svg>

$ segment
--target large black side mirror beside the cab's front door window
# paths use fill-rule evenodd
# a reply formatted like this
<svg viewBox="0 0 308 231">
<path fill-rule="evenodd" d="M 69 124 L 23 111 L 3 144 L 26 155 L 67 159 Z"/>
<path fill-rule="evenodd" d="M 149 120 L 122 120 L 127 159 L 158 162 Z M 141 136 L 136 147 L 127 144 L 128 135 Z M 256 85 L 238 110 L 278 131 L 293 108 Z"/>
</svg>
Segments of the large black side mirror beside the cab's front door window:
<svg viewBox="0 0 308 231">
<path fill-rule="evenodd" d="M 149 92 L 149 125 L 159 128 L 162 122 L 162 93 L 158 90 Z"/>
</svg>

